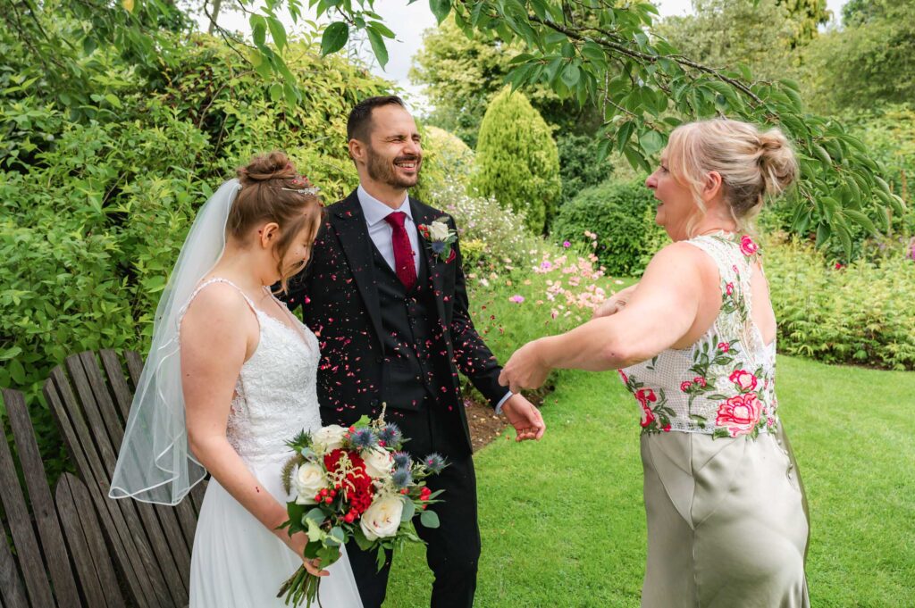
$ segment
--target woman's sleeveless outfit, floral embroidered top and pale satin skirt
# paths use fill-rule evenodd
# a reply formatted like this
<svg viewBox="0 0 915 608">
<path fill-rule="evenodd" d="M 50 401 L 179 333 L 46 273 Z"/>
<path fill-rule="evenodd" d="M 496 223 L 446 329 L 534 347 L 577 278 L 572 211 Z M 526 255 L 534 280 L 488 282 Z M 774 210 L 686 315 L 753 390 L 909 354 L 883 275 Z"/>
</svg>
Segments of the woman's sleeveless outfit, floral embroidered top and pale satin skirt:
<svg viewBox="0 0 915 608">
<path fill-rule="evenodd" d="M 687 242 L 716 262 L 715 323 L 692 347 L 619 371 L 641 411 L 641 605 L 807 608 L 803 491 L 776 413 L 774 344 L 750 315 L 757 246 L 725 234 Z"/>
</svg>

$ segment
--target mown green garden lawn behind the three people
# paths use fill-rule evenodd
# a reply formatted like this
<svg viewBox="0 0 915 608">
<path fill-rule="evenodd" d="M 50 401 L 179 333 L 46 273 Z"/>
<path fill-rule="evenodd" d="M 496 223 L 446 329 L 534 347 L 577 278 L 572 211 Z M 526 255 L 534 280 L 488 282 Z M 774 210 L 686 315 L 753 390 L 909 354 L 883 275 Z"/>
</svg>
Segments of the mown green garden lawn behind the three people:
<svg viewBox="0 0 915 608">
<path fill-rule="evenodd" d="M 780 411 L 813 520 L 814 607 L 915 606 L 915 373 L 780 357 Z M 541 443 L 477 455 L 476 605 L 638 606 L 645 554 L 638 413 L 615 374 L 564 373 Z M 445 496 L 447 498 L 447 496 Z M 428 605 L 422 549 L 385 604 Z"/>
</svg>

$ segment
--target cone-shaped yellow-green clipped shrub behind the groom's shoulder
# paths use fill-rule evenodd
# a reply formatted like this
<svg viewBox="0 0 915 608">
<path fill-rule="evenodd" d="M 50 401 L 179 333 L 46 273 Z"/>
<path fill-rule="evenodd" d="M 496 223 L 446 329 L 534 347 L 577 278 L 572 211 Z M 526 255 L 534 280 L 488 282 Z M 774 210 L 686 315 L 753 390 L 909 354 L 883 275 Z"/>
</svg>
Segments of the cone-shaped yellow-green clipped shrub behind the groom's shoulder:
<svg viewBox="0 0 915 608">
<path fill-rule="evenodd" d="M 523 211 L 528 229 L 543 232 L 562 193 L 559 152 L 544 119 L 521 92 L 506 88 L 492 100 L 476 153 L 471 185 L 480 195 Z"/>
</svg>

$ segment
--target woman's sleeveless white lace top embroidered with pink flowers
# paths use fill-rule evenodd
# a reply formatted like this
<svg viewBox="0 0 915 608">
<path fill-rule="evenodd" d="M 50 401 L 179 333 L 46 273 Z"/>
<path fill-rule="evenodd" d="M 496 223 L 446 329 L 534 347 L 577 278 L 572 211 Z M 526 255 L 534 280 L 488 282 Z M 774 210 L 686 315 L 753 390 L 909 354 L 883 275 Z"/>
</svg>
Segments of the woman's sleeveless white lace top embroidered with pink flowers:
<svg viewBox="0 0 915 608">
<path fill-rule="evenodd" d="M 765 345 L 752 310 L 757 245 L 722 234 L 686 242 L 715 260 L 721 311 L 692 347 L 669 348 L 619 370 L 639 401 L 642 432 L 703 432 L 719 437 L 770 432 L 778 423 L 775 345 Z"/>
</svg>

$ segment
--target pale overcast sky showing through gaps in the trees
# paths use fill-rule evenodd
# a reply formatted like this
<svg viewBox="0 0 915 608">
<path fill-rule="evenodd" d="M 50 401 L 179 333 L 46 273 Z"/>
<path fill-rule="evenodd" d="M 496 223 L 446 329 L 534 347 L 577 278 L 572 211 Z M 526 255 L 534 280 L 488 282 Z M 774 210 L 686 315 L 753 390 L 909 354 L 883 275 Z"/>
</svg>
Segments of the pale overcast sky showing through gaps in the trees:
<svg viewBox="0 0 915 608">
<path fill-rule="evenodd" d="M 748 2 L 750 0 L 747 0 Z M 842 5 L 847 0 L 826 0 L 826 5 L 838 16 Z M 691 11 L 691 0 L 656 0 L 662 16 L 687 15 Z M 376 0 L 375 12 L 382 16 L 385 25 L 390 27 L 396 35 L 394 40 L 388 40 L 388 64 L 384 69 L 374 66 L 372 71 L 385 80 L 393 80 L 404 89 L 406 101 L 416 111 L 425 109 L 425 97 L 421 87 L 414 87 L 407 78 L 413 56 L 422 46 L 423 31 L 428 27 L 436 27 L 436 18 L 429 10 L 429 3 L 418 0 L 412 5 L 407 5 L 406 0 Z M 204 18 L 205 21 L 205 18 Z M 291 19 L 284 19 L 287 31 L 303 31 L 303 26 L 293 27 Z M 230 13 L 220 17 L 220 25 L 229 29 L 248 32 L 246 19 L 237 14 Z M 206 29 L 205 24 L 201 28 Z M 366 46 L 368 49 L 368 46 Z"/>
</svg>

